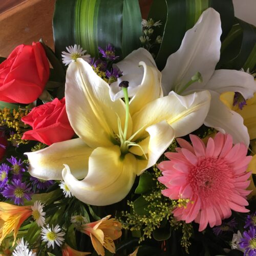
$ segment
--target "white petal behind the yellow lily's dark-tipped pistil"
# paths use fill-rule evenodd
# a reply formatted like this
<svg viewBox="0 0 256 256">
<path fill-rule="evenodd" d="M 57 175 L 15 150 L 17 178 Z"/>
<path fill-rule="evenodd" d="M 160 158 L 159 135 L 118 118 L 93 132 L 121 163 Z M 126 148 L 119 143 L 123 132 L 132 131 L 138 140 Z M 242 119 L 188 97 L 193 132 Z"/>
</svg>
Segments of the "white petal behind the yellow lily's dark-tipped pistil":
<svg viewBox="0 0 256 256">
<path fill-rule="evenodd" d="M 143 61 L 147 66 L 157 67 L 151 53 L 144 48 L 139 48 L 123 60 L 113 65 L 122 72 L 122 76 L 118 78 L 117 82 L 110 85 L 110 96 L 112 100 L 123 98 L 123 92 L 119 87 L 121 81 L 129 81 L 128 95 L 132 97 L 135 95 L 136 87 L 141 83 L 144 71 L 139 67 L 139 62 Z"/>
</svg>

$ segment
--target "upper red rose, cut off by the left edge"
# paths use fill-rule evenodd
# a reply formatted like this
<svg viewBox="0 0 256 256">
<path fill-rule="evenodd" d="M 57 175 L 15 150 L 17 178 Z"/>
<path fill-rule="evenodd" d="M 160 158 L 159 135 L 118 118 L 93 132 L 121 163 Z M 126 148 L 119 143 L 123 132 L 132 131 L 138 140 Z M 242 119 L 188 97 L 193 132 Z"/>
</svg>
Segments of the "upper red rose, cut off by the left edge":
<svg viewBox="0 0 256 256">
<path fill-rule="evenodd" d="M 45 88 L 49 62 L 40 42 L 17 46 L 0 64 L 0 100 L 31 103 Z"/>
</svg>

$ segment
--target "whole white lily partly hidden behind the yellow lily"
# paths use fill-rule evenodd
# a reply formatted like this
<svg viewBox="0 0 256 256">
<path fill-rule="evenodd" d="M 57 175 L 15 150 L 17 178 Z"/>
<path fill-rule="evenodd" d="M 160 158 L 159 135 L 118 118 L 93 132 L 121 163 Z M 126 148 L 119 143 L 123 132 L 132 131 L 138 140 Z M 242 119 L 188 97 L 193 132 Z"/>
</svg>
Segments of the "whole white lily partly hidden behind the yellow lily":
<svg viewBox="0 0 256 256">
<path fill-rule="evenodd" d="M 211 105 L 204 124 L 215 127 L 223 133 L 229 133 L 234 143 L 244 142 L 249 145 L 249 135 L 243 118 L 236 112 L 229 110 L 219 99 L 226 91 L 240 92 L 245 99 L 251 98 L 256 92 L 253 76 L 237 70 L 215 70 L 220 59 L 221 48 L 221 20 L 220 15 L 212 8 L 202 13 L 195 26 L 189 29 L 182 40 L 180 49 L 170 55 L 166 66 L 162 70 L 162 86 L 164 95 L 175 91 L 180 95 L 187 95 L 201 90 L 211 93 Z M 118 79 L 131 81 L 130 96 L 138 90 L 138 81 L 143 71 L 138 68 L 138 60 L 156 67 L 151 54 L 140 48 L 116 64 L 123 71 L 124 76 Z M 200 76 L 202 82 L 198 82 Z M 112 100 L 122 97 L 117 83 L 111 85 Z"/>
</svg>

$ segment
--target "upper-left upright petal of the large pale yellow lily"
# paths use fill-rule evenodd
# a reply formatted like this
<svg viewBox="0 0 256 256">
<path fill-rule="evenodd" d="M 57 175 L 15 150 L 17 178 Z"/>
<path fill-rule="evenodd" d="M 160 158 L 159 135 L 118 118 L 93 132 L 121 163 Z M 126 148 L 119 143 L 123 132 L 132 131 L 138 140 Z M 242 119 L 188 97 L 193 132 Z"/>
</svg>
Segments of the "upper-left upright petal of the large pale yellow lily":
<svg viewBox="0 0 256 256">
<path fill-rule="evenodd" d="M 124 102 L 110 99 L 108 83 L 81 58 L 69 65 L 65 95 L 69 121 L 76 134 L 90 147 L 112 146 L 113 132 L 119 134 L 117 115 L 124 126 Z M 131 127 L 130 117 L 128 136 Z"/>
</svg>

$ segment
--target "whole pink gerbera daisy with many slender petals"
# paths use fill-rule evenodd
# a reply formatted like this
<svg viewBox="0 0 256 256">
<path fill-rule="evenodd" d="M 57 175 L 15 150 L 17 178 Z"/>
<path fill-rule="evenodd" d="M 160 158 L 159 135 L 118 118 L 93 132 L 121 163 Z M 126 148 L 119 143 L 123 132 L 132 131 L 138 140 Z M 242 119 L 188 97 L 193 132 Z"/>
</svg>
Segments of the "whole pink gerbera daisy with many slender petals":
<svg viewBox="0 0 256 256">
<path fill-rule="evenodd" d="M 209 138 L 207 146 L 189 135 L 192 145 L 177 139 L 181 147 L 177 153 L 168 152 L 170 161 L 158 165 L 162 177 L 158 180 L 167 188 L 162 194 L 170 199 L 187 199 L 185 206 L 176 207 L 173 213 L 178 220 L 200 223 L 199 231 L 221 225 L 231 216 L 231 210 L 248 212 L 246 196 L 250 191 L 250 172 L 246 172 L 251 156 L 246 156 L 243 143 L 233 146 L 232 137 L 217 133 Z"/>
</svg>

